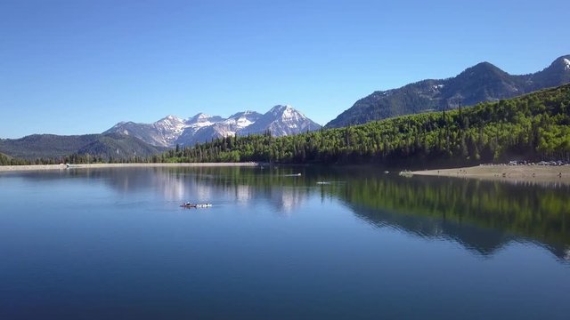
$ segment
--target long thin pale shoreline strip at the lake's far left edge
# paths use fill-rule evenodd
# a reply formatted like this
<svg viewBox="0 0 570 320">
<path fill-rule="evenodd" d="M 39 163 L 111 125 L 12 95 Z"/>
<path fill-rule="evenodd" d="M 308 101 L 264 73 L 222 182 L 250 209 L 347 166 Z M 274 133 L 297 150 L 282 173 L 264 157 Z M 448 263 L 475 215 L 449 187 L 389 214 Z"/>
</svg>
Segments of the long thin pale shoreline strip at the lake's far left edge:
<svg viewBox="0 0 570 320">
<path fill-rule="evenodd" d="M 259 163 L 199 163 L 199 164 L 69 164 L 69 169 L 152 168 L 152 167 L 224 167 L 257 166 Z M 0 172 L 67 170 L 66 164 L 0 165 Z"/>
</svg>

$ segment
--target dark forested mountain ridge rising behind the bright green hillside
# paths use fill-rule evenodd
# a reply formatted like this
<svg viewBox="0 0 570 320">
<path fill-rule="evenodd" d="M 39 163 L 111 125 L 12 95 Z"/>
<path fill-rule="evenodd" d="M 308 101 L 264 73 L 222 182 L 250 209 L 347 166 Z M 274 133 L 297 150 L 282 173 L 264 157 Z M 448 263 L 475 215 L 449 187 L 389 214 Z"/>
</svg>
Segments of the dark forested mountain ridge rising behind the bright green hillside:
<svg viewBox="0 0 570 320">
<path fill-rule="evenodd" d="M 430 110 L 471 106 L 479 102 L 513 98 L 543 88 L 570 82 L 570 55 L 554 60 L 542 71 L 512 76 L 482 62 L 458 76 L 441 80 L 422 80 L 398 89 L 377 91 L 357 100 L 325 128 L 365 124 L 393 116 Z"/>
</svg>

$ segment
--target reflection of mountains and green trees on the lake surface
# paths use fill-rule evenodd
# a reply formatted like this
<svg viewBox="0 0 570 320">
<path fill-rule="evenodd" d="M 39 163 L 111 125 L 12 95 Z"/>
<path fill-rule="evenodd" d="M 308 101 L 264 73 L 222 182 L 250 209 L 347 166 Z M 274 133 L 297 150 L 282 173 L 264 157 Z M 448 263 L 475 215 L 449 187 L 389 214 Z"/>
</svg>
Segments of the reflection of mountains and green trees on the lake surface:
<svg viewBox="0 0 570 320">
<path fill-rule="evenodd" d="M 311 196 L 320 196 L 322 201 L 346 204 L 375 228 L 449 239 L 482 256 L 493 255 L 509 242 L 531 242 L 560 260 L 570 260 L 567 185 L 410 179 L 370 168 L 318 166 L 71 170 L 54 173 L 53 178 L 61 174 L 101 179 L 125 193 L 154 188 L 173 202 L 248 205 L 255 196 L 285 215 L 295 214 Z M 33 173 L 28 177 L 37 179 Z"/>
</svg>

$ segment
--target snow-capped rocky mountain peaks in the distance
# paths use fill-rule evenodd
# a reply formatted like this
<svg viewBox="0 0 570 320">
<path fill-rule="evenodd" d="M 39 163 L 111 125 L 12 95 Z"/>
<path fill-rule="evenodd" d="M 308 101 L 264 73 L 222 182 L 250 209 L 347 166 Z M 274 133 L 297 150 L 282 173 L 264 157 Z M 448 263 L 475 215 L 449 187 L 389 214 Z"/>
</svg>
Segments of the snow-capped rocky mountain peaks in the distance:
<svg viewBox="0 0 570 320">
<path fill-rule="evenodd" d="M 154 146 L 173 147 L 176 144 L 191 146 L 197 142 L 236 134 L 263 133 L 269 130 L 273 136 L 283 136 L 317 130 L 320 127 L 295 108 L 275 106 L 265 115 L 244 111 L 223 118 L 199 113 L 185 120 L 167 116 L 153 124 L 121 122 L 104 133 L 120 132 Z"/>
</svg>

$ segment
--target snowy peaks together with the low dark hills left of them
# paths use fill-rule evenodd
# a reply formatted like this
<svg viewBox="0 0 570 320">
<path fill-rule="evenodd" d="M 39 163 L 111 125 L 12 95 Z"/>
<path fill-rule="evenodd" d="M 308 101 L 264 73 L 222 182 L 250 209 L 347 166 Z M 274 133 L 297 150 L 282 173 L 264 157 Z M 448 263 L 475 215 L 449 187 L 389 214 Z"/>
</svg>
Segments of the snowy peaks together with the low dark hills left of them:
<svg viewBox="0 0 570 320">
<path fill-rule="evenodd" d="M 153 124 L 121 122 L 100 134 L 32 134 L 20 139 L 0 139 L 0 153 L 28 160 L 73 154 L 126 160 L 152 156 L 176 145 L 192 146 L 235 134 L 271 132 L 273 136 L 284 136 L 319 128 L 319 124 L 295 108 L 280 105 L 264 115 L 245 111 L 223 118 L 199 113 L 188 119 L 166 116 Z"/>
</svg>

